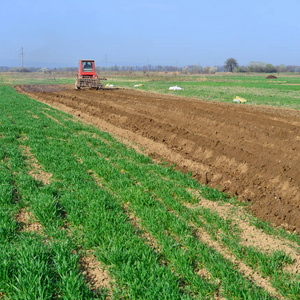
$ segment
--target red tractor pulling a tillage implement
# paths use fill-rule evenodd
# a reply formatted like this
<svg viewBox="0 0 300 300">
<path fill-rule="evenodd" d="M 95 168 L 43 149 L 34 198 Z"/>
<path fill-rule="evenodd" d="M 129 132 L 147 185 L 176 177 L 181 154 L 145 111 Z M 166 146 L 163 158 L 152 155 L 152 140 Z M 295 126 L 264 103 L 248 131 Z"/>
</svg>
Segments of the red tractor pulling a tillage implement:
<svg viewBox="0 0 300 300">
<path fill-rule="evenodd" d="M 99 90 L 104 85 L 100 80 L 106 80 L 106 78 L 99 78 L 95 71 L 95 61 L 91 59 L 80 59 L 77 78 L 75 81 L 75 89 L 79 90 L 82 87 L 95 88 Z"/>
</svg>

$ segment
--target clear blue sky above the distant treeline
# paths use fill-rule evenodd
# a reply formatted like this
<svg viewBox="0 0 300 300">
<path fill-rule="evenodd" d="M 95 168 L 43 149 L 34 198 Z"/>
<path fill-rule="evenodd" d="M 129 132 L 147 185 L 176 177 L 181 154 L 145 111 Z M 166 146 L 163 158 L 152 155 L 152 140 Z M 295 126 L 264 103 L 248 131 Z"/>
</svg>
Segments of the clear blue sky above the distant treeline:
<svg viewBox="0 0 300 300">
<path fill-rule="evenodd" d="M 84 3 L 84 4 L 83 4 Z M 0 0 L 0 66 L 300 65 L 300 0 Z"/>
</svg>

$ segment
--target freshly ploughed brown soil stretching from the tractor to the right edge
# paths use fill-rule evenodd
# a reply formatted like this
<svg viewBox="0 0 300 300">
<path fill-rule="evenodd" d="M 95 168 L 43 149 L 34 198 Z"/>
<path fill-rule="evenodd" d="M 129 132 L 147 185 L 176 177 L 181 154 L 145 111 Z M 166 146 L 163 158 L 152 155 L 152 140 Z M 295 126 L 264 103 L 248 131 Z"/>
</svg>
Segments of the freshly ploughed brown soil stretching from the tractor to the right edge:
<svg viewBox="0 0 300 300">
<path fill-rule="evenodd" d="M 300 232 L 300 112 L 126 89 L 16 87 L 146 148 L 196 179 L 251 203 L 264 220 Z"/>
</svg>

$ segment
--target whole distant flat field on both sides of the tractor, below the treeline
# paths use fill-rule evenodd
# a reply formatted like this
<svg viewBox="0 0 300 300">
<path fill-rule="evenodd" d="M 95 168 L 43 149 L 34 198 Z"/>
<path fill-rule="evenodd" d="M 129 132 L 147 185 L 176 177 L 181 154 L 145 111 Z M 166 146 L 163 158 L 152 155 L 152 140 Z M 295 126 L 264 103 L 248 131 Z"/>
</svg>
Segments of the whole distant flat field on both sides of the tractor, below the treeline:
<svg viewBox="0 0 300 300">
<path fill-rule="evenodd" d="M 248 104 L 272 105 L 300 109 L 300 75 L 280 74 L 278 79 L 266 79 L 269 74 L 259 75 L 174 75 L 146 73 L 107 73 L 107 83 L 116 87 L 194 97 L 202 100 L 232 102 L 235 96 L 248 100 Z M 76 73 L 64 74 L 6 74 L 0 73 L 0 84 L 74 84 Z M 178 85 L 184 90 L 169 91 Z"/>
</svg>

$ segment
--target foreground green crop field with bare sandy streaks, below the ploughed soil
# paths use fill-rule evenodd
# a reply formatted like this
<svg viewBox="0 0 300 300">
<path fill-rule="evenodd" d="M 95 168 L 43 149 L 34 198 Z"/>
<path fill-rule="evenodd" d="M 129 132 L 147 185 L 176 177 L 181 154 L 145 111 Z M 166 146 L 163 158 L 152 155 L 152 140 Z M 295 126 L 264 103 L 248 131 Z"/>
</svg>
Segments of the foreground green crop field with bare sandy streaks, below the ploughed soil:
<svg viewBox="0 0 300 300">
<path fill-rule="evenodd" d="M 0 298 L 299 299 L 292 255 L 245 244 L 234 215 L 204 206 L 242 209 L 235 199 L 12 87 L 0 86 L 0 109 Z M 297 235 L 242 218 L 299 251 Z M 40 230 L 24 230 L 31 224 Z M 88 253 L 109 287 L 88 284 Z"/>
</svg>

